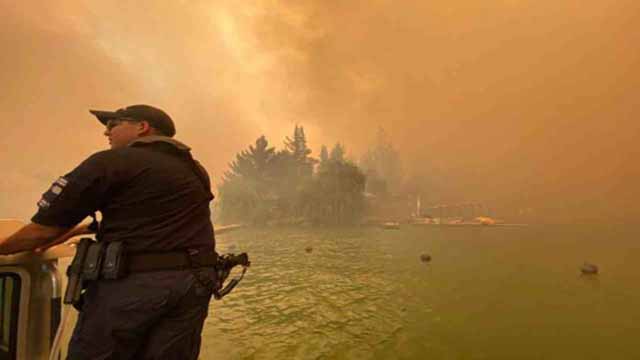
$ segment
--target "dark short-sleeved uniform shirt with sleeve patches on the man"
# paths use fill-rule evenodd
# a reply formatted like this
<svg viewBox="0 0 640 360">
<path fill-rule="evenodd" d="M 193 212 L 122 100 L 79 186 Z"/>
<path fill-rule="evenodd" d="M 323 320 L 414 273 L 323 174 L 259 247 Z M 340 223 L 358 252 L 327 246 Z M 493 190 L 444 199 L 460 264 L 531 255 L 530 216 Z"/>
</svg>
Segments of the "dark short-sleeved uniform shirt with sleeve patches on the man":
<svg viewBox="0 0 640 360">
<path fill-rule="evenodd" d="M 214 250 L 209 176 L 189 148 L 150 136 L 90 156 L 38 202 L 34 223 L 72 227 L 102 213 L 101 241 L 131 252 Z"/>
</svg>

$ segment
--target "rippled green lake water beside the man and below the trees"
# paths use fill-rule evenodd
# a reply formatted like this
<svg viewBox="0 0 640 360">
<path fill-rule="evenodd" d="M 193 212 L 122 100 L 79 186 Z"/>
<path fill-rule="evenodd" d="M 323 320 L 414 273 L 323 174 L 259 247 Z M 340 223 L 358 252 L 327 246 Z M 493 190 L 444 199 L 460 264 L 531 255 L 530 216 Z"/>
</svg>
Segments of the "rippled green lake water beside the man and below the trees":
<svg viewBox="0 0 640 360">
<path fill-rule="evenodd" d="M 242 229 L 218 250 L 253 265 L 202 359 L 640 359 L 633 226 Z"/>
</svg>

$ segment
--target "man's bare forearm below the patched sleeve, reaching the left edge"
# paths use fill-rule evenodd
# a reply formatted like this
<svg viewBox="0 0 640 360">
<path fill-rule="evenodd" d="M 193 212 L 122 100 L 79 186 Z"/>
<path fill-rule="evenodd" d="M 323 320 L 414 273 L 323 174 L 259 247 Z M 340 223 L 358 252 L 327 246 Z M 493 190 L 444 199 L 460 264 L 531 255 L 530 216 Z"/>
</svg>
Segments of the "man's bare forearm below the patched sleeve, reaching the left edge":
<svg viewBox="0 0 640 360">
<path fill-rule="evenodd" d="M 34 250 L 46 246 L 62 234 L 69 231 L 68 228 L 28 224 L 16 231 L 13 235 L 0 239 L 0 255 L 8 255 L 20 251 Z"/>
</svg>

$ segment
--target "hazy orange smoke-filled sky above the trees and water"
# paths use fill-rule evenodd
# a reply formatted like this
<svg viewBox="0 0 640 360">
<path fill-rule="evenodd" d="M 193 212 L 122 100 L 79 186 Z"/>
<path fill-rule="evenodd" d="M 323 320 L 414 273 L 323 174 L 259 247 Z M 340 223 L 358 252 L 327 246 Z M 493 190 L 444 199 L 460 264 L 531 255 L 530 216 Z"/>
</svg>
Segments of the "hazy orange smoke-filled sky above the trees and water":
<svg viewBox="0 0 640 360">
<path fill-rule="evenodd" d="M 427 203 L 640 216 L 637 1 L 0 7 L 0 217 L 28 218 L 106 147 L 89 108 L 135 103 L 165 109 L 216 179 L 296 123 L 314 155 L 340 141 L 354 158 L 382 127 Z"/>
</svg>

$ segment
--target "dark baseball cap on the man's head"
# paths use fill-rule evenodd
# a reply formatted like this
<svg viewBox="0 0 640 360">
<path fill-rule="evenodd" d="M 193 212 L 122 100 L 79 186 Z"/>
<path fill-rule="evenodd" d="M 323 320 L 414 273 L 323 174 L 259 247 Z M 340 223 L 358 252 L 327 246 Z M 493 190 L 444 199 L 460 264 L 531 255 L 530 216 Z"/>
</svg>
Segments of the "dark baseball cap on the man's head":
<svg viewBox="0 0 640 360">
<path fill-rule="evenodd" d="M 158 129 L 163 135 L 173 137 L 176 127 L 171 117 L 166 112 L 150 105 L 131 105 L 116 111 L 89 110 L 98 120 L 107 125 L 112 119 L 132 119 L 146 121 L 152 127 Z"/>
</svg>

